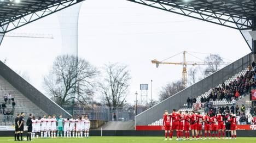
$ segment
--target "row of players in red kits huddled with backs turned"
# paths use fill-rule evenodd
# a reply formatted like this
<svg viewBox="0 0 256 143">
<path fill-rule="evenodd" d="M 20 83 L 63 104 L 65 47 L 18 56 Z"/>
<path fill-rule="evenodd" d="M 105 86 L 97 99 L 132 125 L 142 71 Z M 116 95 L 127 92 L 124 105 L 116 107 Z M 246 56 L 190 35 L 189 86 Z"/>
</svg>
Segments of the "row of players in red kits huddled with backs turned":
<svg viewBox="0 0 256 143">
<path fill-rule="evenodd" d="M 205 140 L 207 136 L 209 139 L 221 139 L 224 138 L 226 131 L 226 139 L 236 139 L 236 115 L 230 113 L 218 113 L 215 116 L 209 116 L 206 113 L 204 116 L 200 115 L 199 112 L 195 113 L 195 111 L 178 111 L 176 113 L 176 109 L 173 109 L 172 113 L 169 114 L 167 110 L 163 115 L 163 126 L 165 128 L 165 140 L 167 140 L 167 135 L 169 133 L 169 140 L 172 140 L 173 131 L 176 130 L 177 139 L 183 140 L 183 135 L 185 133 L 185 140 L 189 140 L 190 130 L 192 133 L 192 139 L 196 140 L 202 139 L 202 126 L 205 126 Z M 212 131 L 212 134 L 211 134 Z M 212 138 L 211 138 L 212 137 Z M 228 138 L 229 137 L 229 138 Z"/>
</svg>

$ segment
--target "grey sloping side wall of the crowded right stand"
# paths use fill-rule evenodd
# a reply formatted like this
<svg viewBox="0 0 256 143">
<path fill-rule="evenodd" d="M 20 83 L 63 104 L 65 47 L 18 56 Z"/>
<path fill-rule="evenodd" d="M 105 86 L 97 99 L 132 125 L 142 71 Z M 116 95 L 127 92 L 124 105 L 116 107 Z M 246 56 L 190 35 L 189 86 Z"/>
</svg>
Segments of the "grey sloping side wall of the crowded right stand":
<svg viewBox="0 0 256 143">
<path fill-rule="evenodd" d="M 225 66 L 223 69 L 211 74 L 210 76 L 200 80 L 199 82 L 189 86 L 188 88 L 178 92 L 177 94 L 167 98 L 165 101 L 156 104 L 154 107 L 138 114 L 135 117 L 135 125 L 148 125 L 162 117 L 164 110 L 179 109 L 184 103 L 187 103 L 188 97 L 197 97 L 206 91 L 223 83 L 225 80 L 241 72 L 251 64 L 252 54 L 248 54 L 234 63 Z"/>
</svg>

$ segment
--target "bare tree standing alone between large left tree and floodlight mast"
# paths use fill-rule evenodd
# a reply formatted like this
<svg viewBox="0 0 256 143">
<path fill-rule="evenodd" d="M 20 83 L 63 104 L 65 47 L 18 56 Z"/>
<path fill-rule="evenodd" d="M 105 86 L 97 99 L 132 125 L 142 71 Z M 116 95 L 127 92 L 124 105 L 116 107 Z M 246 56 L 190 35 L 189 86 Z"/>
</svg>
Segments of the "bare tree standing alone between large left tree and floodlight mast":
<svg viewBox="0 0 256 143">
<path fill-rule="evenodd" d="M 105 78 L 99 83 L 102 101 L 113 110 L 123 107 L 130 86 L 130 71 L 126 65 L 115 63 L 105 65 L 104 74 Z"/>
</svg>

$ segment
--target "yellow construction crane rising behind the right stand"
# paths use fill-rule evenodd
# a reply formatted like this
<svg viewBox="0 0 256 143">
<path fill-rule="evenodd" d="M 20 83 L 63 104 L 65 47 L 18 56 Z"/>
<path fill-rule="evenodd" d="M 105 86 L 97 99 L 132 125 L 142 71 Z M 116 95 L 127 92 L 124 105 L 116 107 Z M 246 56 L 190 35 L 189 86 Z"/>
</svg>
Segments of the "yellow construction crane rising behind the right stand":
<svg viewBox="0 0 256 143">
<path fill-rule="evenodd" d="M 170 58 L 167 58 L 165 60 L 162 60 L 162 61 L 158 61 L 156 59 L 152 60 L 152 64 L 156 64 L 156 67 L 159 67 L 160 64 L 164 64 L 164 65 L 182 65 L 183 68 L 182 68 L 182 85 L 184 86 L 184 88 L 187 88 L 188 86 L 188 73 L 187 73 L 187 65 L 213 65 L 212 62 L 204 62 L 204 61 L 187 61 L 186 60 L 186 53 L 188 53 L 187 51 L 183 51 L 183 61 L 182 62 L 164 62 L 165 60 L 167 59 L 170 59 L 178 54 L 181 54 L 181 53 L 178 53 L 178 54 L 175 54 L 173 55 L 172 57 Z M 195 57 L 195 56 L 194 56 Z M 229 65 L 230 63 L 218 63 L 218 65 Z"/>
</svg>

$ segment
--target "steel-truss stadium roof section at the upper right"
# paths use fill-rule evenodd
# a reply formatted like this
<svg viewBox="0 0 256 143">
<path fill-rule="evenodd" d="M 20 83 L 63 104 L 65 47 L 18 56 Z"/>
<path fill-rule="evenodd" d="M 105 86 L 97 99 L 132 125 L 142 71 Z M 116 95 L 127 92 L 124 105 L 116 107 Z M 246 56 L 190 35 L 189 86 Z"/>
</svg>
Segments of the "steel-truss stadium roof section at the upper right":
<svg viewBox="0 0 256 143">
<path fill-rule="evenodd" d="M 235 29 L 252 29 L 256 0 L 127 0 Z"/>
</svg>

